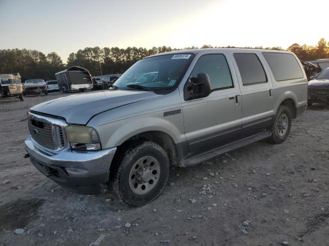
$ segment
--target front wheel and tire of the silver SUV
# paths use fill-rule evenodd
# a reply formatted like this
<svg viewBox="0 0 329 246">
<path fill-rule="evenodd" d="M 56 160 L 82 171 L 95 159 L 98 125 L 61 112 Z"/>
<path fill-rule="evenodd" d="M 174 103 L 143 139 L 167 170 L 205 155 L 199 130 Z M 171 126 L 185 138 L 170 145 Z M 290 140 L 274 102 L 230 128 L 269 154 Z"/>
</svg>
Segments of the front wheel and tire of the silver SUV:
<svg viewBox="0 0 329 246">
<path fill-rule="evenodd" d="M 130 206 L 143 206 L 154 200 L 169 177 L 168 155 L 152 141 L 134 141 L 114 164 L 117 167 L 114 193 L 122 203 Z"/>
</svg>

